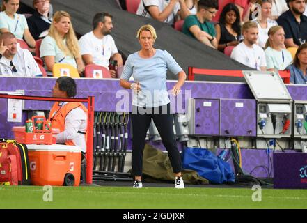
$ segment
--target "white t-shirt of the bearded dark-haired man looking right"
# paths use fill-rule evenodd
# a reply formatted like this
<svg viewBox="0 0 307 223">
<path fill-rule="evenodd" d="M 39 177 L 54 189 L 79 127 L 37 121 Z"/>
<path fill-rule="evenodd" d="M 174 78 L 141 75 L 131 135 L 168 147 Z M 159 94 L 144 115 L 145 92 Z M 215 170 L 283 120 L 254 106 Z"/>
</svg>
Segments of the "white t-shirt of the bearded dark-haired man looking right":
<svg viewBox="0 0 307 223">
<path fill-rule="evenodd" d="M 109 69 L 109 59 L 118 53 L 118 49 L 112 36 L 107 35 L 104 38 L 97 38 L 93 31 L 86 33 L 79 40 L 81 55 L 90 54 L 93 56 L 93 62 L 97 65 Z"/>
</svg>

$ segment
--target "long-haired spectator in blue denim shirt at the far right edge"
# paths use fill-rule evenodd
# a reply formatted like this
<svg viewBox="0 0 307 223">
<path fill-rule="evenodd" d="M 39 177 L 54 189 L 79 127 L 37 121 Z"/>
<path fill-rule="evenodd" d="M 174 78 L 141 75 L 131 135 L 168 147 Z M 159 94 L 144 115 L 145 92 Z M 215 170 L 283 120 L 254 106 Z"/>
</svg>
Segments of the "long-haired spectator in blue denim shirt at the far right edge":
<svg viewBox="0 0 307 223">
<path fill-rule="evenodd" d="M 307 84 L 307 43 L 299 46 L 292 65 L 286 69 L 290 70 L 291 84 Z"/>
</svg>

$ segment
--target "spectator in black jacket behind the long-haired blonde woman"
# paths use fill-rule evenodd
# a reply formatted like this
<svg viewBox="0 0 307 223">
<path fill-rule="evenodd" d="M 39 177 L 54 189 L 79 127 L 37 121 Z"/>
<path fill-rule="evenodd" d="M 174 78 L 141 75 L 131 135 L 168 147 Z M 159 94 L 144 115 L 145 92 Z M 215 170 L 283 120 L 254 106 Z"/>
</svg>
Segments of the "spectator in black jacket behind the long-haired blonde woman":
<svg viewBox="0 0 307 223">
<path fill-rule="evenodd" d="M 52 15 L 49 15 L 49 0 L 33 0 L 33 7 L 36 11 L 27 18 L 29 31 L 35 40 L 38 40 L 40 34 L 47 31 L 52 23 Z"/>
</svg>

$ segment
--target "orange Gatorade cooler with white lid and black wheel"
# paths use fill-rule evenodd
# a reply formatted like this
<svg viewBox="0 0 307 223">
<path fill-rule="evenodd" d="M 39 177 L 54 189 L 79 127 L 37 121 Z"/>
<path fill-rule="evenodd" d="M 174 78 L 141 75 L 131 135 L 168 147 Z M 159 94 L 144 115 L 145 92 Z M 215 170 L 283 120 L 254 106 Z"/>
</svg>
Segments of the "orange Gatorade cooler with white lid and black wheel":
<svg viewBox="0 0 307 223">
<path fill-rule="evenodd" d="M 27 144 L 33 185 L 79 186 L 81 148 Z"/>
</svg>

